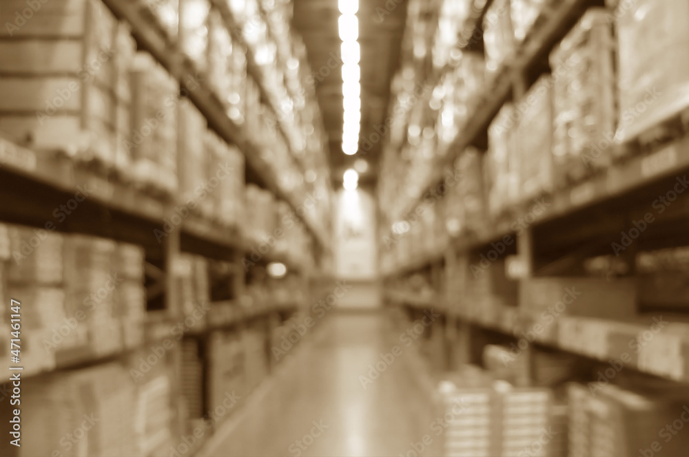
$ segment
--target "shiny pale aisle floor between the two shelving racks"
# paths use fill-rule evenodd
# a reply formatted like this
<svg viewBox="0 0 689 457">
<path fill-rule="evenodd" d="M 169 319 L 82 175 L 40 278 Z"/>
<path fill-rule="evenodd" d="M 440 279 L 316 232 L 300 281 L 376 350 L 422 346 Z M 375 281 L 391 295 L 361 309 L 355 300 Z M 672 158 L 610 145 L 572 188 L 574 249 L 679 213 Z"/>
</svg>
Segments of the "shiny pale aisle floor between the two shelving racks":
<svg viewBox="0 0 689 457">
<path fill-rule="evenodd" d="M 210 455 L 396 456 L 422 436 L 431 407 L 410 376 L 413 351 L 403 352 L 365 389 L 359 378 L 399 336 L 382 313 L 333 315 L 313 331 L 262 407 Z"/>
</svg>

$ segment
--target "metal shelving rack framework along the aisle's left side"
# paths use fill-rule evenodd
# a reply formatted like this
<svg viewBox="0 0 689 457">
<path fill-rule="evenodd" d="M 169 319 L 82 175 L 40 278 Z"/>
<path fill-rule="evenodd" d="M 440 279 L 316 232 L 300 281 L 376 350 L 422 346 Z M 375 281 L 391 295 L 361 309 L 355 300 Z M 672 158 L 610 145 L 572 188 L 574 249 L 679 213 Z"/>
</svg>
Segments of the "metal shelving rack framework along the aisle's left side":
<svg viewBox="0 0 689 457">
<path fill-rule="evenodd" d="M 310 310 L 307 305 L 325 296 L 333 287 L 332 277 L 327 274 L 328 259 L 331 256 L 328 228 L 312 220 L 308 214 L 302 215 L 297 211 L 305 197 L 302 195 L 303 192 L 300 193 L 301 189 L 287 190 L 280 186 L 277 179 L 279 170 L 272 169 L 271 164 L 262 157 L 260 143 L 256 138 L 249 138 L 243 126 L 227 116 L 225 107 L 207 83 L 202 81 L 198 87 L 186 87 L 189 81 L 194 81 L 198 72 L 194 64 L 183 56 L 178 45 L 169 41 L 145 2 L 104 0 L 103 3 L 112 10 L 117 19 L 130 26 L 138 49 L 149 52 L 158 63 L 161 63 L 180 83 L 183 92 L 187 89 L 189 100 L 205 116 L 209 128 L 227 144 L 236 145 L 240 149 L 245 158 L 247 182 L 268 189 L 278 200 L 291 205 L 311 235 L 314 248 L 311 255 L 317 268 L 325 274 L 316 275 L 301 259 L 294 259 L 288 253 L 271 249 L 265 255 L 262 253 L 260 260 L 255 262 L 258 266 L 252 268 L 265 269 L 271 262 L 285 264 L 287 277 L 296 278 L 296 281 L 302 284 L 302 290 L 309 290 L 309 293 L 302 293 L 298 297 L 283 293 L 281 297 L 266 297 L 262 302 L 246 303 L 247 271 L 249 274 L 253 272 L 241 261 L 243 257 L 250 255 L 256 240 L 243 233 L 240 227 L 228 227 L 216 220 L 207 220 L 203 216 L 190 213 L 178 226 L 173 225 L 172 230 L 169 230 L 169 227 L 166 230 L 165 225 L 176 215 L 174 209 L 178 202 L 175 198 L 155 198 L 124 182 L 119 182 L 116 178 L 113 179 L 113 176 L 96 173 L 60 153 L 32 150 L 30 147 L 17 145 L 0 134 L 0 195 L 3 196 L 0 199 L 0 221 L 43 228 L 45 221 L 53 220 L 52 211 L 55 208 L 72 198 L 79 189 L 88 189 L 88 198 L 79 204 L 78 210 L 70 214 L 63 223 L 52 224 L 51 231 L 54 229 L 59 233 L 94 235 L 145 248 L 147 312 L 141 344 L 105 354 L 89 347 L 60 350 L 55 354 L 54 368 L 25 368 L 25 379 L 48 385 L 52 382 L 52 376 L 56 374 L 73 373 L 110 362 L 121 362 L 125 366 L 134 367 L 138 357 L 145 357 L 144 351 L 163 342 L 171 343 L 168 363 L 178 374 L 182 366 L 181 351 L 187 341 L 196 341 L 200 354 L 209 357 L 209 339 L 214 334 L 244 337 L 249 330 L 263 335 L 263 357 L 271 370 L 274 363 L 270 347 L 271 339 L 275 337 L 274 332 L 278 328 L 287 329 L 290 318 L 308 314 Z M 222 1 L 212 3 L 214 8 L 219 8 L 223 14 L 233 39 L 240 36 L 241 26 L 232 18 L 227 4 Z M 249 76 L 258 83 L 261 98 L 267 100 L 267 105 L 277 116 L 279 108 L 276 106 L 276 100 L 269 87 L 265 85 L 263 74 L 254 62 L 250 49 L 247 61 Z M 281 134 L 289 145 L 292 162 L 303 173 L 303 164 L 291 149 L 287 134 L 285 131 L 281 131 Z M 160 238 L 156 233 L 165 235 Z M 189 254 L 232 264 L 232 270 L 211 280 L 211 309 L 203 316 L 203 324 L 193 327 L 185 325 L 183 335 L 177 338 L 176 334 L 172 334 L 172 328 L 184 322 L 185 315 L 181 309 L 181 297 L 178 296 L 176 270 L 185 268 L 182 257 Z M 220 298 L 214 299 L 214 294 Z M 167 346 L 165 348 L 167 349 Z M 203 385 L 200 387 L 202 397 L 198 401 L 203 403 L 203 412 L 206 412 L 216 405 L 210 404 L 207 379 L 209 360 L 204 357 L 201 358 L 204 376 Z M 172 381 L 169 392 L 169 404 L 173 415 L 169 418 L 169 432 L 172 439 L 169 445 L 177 446 L 178 438 L 185 434 L 185 430 L 188 432 L 185 427 L 189 425 L 184 423 L 185 416 L 181 412 L 181 380 Z M 254 388 L 255 386 L 251 387 Z M 214 423 L 213 429 L 217 430 L 220 425 L 221 423 Z M 199 440 L 189 449 L 189 454 L 198 451 L 208 437 L 209 434 L 206 434 L 204 440 Z M 3 452 L 4 450 L 3 447 Z M 7 451 L 9 454 L 3 455 L 14 455 L 12 453 L 16 449 Z M 159 455 L 160 451 L 161 449 L 158 449 L 158 454 L 155 455 Z M 163 451 L 164 455 L 169 454 L 167 447 Z M 147 455 L 152 456 L 153 452 L 155 451 L 150 450 Z"/>
</svg>

